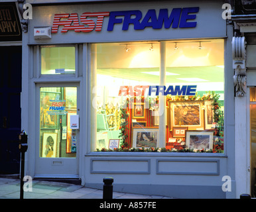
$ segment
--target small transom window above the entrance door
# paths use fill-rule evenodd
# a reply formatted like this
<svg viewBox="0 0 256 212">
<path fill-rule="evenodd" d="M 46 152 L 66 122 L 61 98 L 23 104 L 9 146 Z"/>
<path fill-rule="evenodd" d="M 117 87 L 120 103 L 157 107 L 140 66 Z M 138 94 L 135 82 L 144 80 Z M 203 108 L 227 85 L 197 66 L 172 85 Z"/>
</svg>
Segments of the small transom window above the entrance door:
<svg viewBox="0 0 256 212">
<path fill-rule="evenodd" d="M 74 46 L 41 47 L 41 74 L 75 74 Z"/>
</svg>

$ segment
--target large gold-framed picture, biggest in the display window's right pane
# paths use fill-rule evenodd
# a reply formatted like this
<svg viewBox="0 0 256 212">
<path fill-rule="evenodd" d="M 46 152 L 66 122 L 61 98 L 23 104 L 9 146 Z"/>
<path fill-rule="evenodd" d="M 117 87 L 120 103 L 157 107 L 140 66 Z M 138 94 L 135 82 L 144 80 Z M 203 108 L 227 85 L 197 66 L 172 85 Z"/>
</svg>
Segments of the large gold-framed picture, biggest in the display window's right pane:
<svg viewBox="0 0 256 212">
<path fill-rule="evenodd" d="M 169 129 L 188 127 L 188 130 L 204 130 L 204 101 L 170 101 Z"/>
</svg>

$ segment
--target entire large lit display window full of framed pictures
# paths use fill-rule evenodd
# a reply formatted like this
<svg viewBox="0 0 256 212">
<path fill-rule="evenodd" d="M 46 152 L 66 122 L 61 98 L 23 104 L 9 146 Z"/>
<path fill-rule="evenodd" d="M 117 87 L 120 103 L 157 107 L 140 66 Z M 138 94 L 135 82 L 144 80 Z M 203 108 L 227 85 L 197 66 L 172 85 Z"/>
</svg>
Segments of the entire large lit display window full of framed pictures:
<svg viewBox="0 0 256 212">
<path fill-rule="evenodd" d="M 92 151 L 223 146 L 224 40 L 92 45 Z"/>
</svg>

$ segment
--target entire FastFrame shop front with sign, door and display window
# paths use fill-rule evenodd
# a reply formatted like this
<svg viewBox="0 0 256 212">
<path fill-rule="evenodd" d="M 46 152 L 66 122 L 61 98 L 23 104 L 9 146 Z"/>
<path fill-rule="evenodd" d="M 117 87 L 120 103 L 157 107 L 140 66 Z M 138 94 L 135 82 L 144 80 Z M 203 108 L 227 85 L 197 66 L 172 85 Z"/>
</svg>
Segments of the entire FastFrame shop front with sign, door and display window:
<svg viewBox="0 0 256 212">
<path fill-rule="evenodd" d="M 235 197 L 233 29 L 222 4 L 32 4 L 23 33 L 27 175 Z"/>
</svg>

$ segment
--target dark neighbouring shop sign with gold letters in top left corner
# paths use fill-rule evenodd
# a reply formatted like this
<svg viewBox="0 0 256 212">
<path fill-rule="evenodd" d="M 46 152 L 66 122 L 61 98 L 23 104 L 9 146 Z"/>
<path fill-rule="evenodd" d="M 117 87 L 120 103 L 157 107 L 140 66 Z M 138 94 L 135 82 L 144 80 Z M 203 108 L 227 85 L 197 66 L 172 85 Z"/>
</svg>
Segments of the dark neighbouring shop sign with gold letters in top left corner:
<svg viewBox="0 0 256 212">
<path fill-rule="evenodd" d="M 0 5 L 0 41 L 21 40 L 21 25 L 14 4 Z"/>
</svg>

